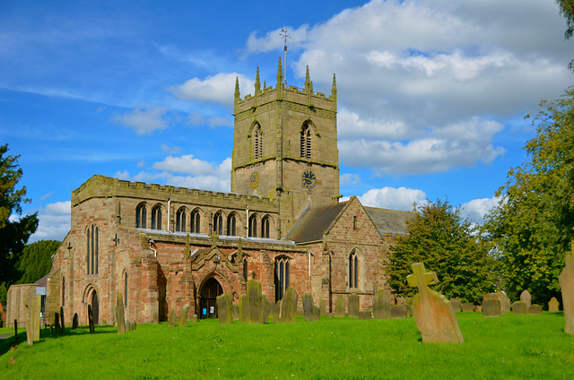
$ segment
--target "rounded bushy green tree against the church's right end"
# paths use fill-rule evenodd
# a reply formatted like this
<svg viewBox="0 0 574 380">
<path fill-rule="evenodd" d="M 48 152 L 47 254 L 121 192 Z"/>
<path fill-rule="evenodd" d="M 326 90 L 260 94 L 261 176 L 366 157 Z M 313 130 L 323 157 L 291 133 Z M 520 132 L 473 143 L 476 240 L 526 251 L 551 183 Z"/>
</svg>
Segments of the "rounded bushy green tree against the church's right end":
<svg viewBox="0 0 574 380">
<path fill-rule="evenodd" d="M 468 302 L 482 300 L 497 278 L 489 246 L 477 239 L 470 221 L 448 201 L 429 202 L 415 210 L 415 217 L 407 222 L 407 234 L 391 247 L 388 260 L 390 286 L 403 297 L 417 292 L 406 283 L 413 263 L 422 262 L 437 273 L 439 284 L 433 288 L 445 297 Z"/>
</svg>

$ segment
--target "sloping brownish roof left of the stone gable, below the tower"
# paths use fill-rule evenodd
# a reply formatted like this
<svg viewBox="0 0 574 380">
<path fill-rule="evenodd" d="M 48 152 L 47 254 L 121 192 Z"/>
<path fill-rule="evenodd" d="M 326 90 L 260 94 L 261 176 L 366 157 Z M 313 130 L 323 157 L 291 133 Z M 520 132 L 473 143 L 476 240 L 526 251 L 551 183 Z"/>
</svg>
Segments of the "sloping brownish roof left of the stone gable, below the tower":
<svg viewBox="0 0 574 380">
<path fill-rule="evenodd" d="M 323 234 L 331 228 L 349 202 L 308 207 L 285 238 L 295 243 L 308 243 L 323 239 Z"/>
</svg>

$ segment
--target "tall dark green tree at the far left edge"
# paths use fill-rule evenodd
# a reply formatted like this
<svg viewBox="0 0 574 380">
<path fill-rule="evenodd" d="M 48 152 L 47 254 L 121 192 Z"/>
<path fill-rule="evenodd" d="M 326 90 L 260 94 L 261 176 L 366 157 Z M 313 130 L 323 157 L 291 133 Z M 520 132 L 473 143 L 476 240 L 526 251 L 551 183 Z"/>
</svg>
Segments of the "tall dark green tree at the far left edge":
<svg viewBox="0 0 574 380">
<path fill-rule="evenodd" d="M 17 220 L 10 218 L 13 214 L 22 215 L 22 203 L 30 200 L 25 198 L 26 187 L 16 188 L 22 178 L 22 168 L 18 165 L 20 156 L 7 155 L 7 152 L 8 144 L 0 145 L 0 281 L 4 282 L 4 288 L 19 279 L 16 263 L 28 238 L 38 228 L 36 213 Z M 5 295 L 0 302 L 5 304 Z"/>
</svg>

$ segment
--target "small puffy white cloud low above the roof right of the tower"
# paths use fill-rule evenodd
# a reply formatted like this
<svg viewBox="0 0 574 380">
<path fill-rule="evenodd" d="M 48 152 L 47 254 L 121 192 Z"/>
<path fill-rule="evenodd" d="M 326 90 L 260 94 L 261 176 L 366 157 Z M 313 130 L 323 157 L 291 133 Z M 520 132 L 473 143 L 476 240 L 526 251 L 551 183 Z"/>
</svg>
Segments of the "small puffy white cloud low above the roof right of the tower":
<svg viewBox="0 0 574 380">
<path fill-rule="evenodd" d="M 413 211 L 413 203 L 417 205 L 426 203 L 426 196 L 422 190 L 406 187 L 383 187 L 370 189 L 358 198 L 365 206 L 411 212 Z"/>
</svg>

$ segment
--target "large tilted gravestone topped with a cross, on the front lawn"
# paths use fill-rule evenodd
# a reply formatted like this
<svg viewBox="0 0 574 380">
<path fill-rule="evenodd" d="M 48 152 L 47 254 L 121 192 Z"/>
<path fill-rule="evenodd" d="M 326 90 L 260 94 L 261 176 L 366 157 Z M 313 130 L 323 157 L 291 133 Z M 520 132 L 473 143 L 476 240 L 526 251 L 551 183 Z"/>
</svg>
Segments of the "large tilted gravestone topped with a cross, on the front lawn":
<svg viewBox="0 0 574 380">
<path fill-rule="evenodd" d="M 406 280 L 419 293 L 413 298 L 413 315 L 424 342 L 463 343 L 457 316 L 445 296 L 428 285 L 439 282 L 435 272 L 426 272 L 424 263 L 413 263 Z"/>
</svg>

